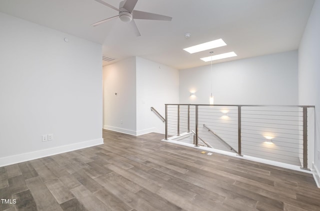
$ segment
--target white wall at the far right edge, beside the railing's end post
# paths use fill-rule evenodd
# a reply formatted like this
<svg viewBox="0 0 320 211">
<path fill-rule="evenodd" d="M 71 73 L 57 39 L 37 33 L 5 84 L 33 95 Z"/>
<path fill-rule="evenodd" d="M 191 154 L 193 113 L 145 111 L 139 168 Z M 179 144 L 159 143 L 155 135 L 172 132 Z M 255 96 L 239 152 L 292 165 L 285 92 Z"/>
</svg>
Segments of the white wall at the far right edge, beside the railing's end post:
<svg viewBox="0 0 320 211">
<path fill-rule="evenodd" d="M 300 104 L 315 105 L 315 166 L 320 170 L 320 0 L 315 0 L 298 50 Z M 320 183 L 319 172 L 317 181 Z"/>
</svg>

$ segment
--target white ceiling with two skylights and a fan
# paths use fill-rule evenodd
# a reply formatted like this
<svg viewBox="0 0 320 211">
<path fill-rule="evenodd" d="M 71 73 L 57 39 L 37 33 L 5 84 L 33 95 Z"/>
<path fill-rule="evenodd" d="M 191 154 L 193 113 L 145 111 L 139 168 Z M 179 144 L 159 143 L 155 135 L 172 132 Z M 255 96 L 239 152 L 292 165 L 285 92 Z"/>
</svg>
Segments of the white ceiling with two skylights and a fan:
<svg viewBox="0 0 320 211">
<path fill-rule="evenodd" d="M 120 0 L 104 0 L 118 7 Z M 138 0 L 135 9 L 172 16 L 172 21 L 135 20 L 141 36 L 118 18 L 117 11 L 94 0 L 0 0 L 0 11 L 103 44 L 103 54 L 124 59 L 140 56 L 183 69 L 208 64 L 206 50 L 182 48 L 222 38 L 214 54 L 234 51 L 228 60 L 294 50 L 314 0 Z M 191 33 L 185 38 L 184 33 Z M 113 61 L 113 62 L 114 62 Z M 104 62 L 109 64 L 111 62 Z"/>
</svg>

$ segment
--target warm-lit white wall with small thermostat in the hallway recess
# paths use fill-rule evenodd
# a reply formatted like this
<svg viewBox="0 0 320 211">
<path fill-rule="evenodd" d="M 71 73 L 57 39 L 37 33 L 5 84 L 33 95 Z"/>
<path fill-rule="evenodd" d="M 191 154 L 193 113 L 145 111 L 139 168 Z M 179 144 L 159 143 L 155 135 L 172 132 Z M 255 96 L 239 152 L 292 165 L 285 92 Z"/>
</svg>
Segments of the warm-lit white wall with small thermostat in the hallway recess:
<svg viewBox="0 0 320 211">
<path fill-rule="evenodd" d="M 103 67 L 103 128 L 135 134 L 135 80 L 135 57 L 130 57 Z M 117 93 L 116 95 L 115 92 Z"/>
</svg>

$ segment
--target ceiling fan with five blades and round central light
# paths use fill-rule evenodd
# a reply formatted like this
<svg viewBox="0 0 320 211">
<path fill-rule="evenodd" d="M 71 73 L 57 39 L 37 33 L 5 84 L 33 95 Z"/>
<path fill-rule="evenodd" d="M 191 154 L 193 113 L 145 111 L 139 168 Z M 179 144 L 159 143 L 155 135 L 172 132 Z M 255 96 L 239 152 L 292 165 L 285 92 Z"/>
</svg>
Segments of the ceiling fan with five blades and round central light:
<svg viewBox="0 0 320 211">
<path fill-rule="evenodd" d="M 95 0 L 99 3 L 102 3 L 114 10 L 117 10 L 119 12 L 118 15 L 115 15 L 113 17 L 108 17 L 106 19 L 100 20 L 98 22 L 93 23 L 93 26 L 96 26 L 98 24 L 101 24 L 107 20 L 119 17 L 120 20 L 123 22 L 129 22 L 129 24 L 132 26 L 134 33 L 136 36 L 140 36 L 140 32 L 138 27 L 136 26 L 134 19 L 146 19 L 146 20 L 167 20 L 171 21 L 172 17 L 161 15 L 161 14 L 155 14 L 155 13 L 150 13 L 150 12 L 145 12 L 145 11 L 139 11 L 139 10 L 134 10 L 134 6 L 138 0 L 123 0 L 119 4 L 119 8 L 116 8 L 112 6 L 111 4 L 108 4 L 104 2 L 103 0 Z"/>
</svg>

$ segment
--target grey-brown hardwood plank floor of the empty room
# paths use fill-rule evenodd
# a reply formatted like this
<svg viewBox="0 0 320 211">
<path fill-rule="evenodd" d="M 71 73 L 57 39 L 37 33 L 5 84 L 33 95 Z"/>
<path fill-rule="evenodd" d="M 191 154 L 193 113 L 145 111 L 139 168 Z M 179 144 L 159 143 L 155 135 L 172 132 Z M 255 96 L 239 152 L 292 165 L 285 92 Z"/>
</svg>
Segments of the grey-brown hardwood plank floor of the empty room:
<svg viewBox="0 0 320 211">
<path fill-rule="evenodd" d="M 103 130 L 104 144 L 0 167 L 0 210 L 320 210 L 311 174 Z"/>
</svg>

